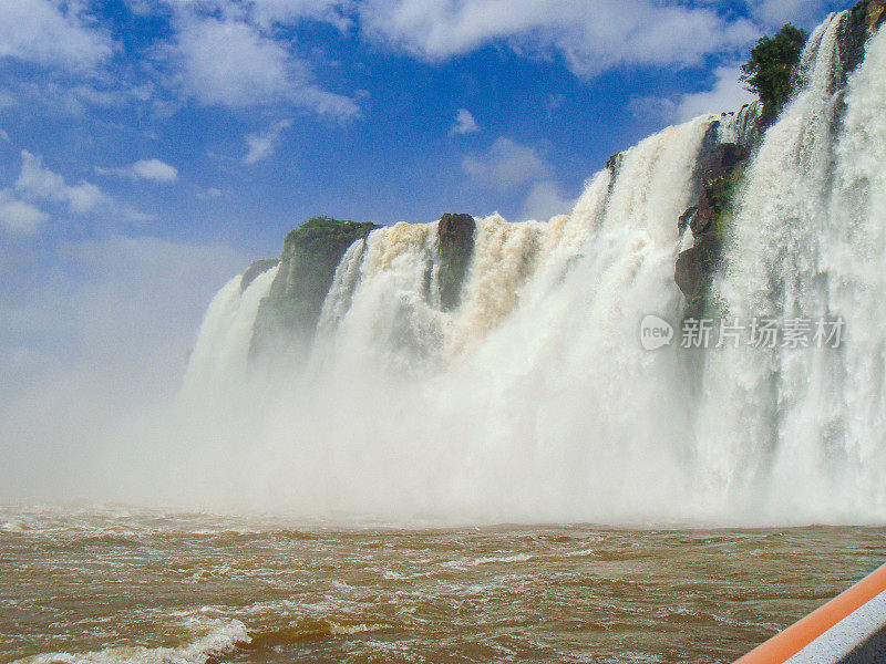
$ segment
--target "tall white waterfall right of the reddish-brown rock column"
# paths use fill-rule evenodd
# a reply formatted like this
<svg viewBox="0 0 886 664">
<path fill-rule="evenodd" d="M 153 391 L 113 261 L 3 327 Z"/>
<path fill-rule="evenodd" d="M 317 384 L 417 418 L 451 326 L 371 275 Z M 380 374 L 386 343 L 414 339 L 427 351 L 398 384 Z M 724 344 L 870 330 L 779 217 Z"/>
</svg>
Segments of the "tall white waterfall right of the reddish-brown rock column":
<svg viewBox="0 0 886 664">
<path fill-rule="evenodd" d="M 730 320 L 769 319 L 781 329 L 810 321 L 814 335 L 818 321 L 842 319 L 848 339 L 841 349 L 780 341 L 709 354 L 696 463 L 712 513 L 743 509 L 763 520 L 886 513 L 872 481 L 884 468 L 883 429 L 858 426 L 884 417 L 886 318 L 877 303 L 886 293 L 886 245 L 884 218 L 870 204 L 884 175 L 886 144 L 875 136 L 886 95 L 875 80 L 886 35 L 869 43 L 841 122 L 838 33 L 848 18 L 833 14 L 810 39 L 805 85 L 766 133 L 715 284 Z"/>
</svg>

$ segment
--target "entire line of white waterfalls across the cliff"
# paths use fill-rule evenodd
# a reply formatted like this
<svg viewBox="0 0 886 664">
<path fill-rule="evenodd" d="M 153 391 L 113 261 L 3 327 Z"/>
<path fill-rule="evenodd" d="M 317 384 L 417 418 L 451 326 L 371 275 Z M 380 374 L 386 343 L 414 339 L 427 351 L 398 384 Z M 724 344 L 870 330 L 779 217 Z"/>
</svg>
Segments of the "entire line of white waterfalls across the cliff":
<svg viewBox="0 0 886 664">
<path fill-rule="evenodd" d="M 696 362 L 639 343 L 643 317 L 682 314 L 674 261 L 691 237 L 677 220 L 696 199 L 699 151 L 714 122 L 719 141 L 749 143 L 749 106 L 641 142 L 569 215 L 480 219 L 454 310 L 437 294 L 435 224 L 352 245 L 309 361 L 235 390 L 236 408 L 190 432 L 250 470 L 206 470 L 202 490 L 229 497 L 233 483 L 247 504 L 398 520 L 882 517 L 886 35 L 843 112 L 847 15 L 810 39 L 803 87 L 748 170 L 714 286 L 730 318 L 842 317 L 842 349 L 725 347 Z M 251 289 L 272 276 L 260 279 L 214 300 L 188 384 L 245 382 Z"/>
</svg>

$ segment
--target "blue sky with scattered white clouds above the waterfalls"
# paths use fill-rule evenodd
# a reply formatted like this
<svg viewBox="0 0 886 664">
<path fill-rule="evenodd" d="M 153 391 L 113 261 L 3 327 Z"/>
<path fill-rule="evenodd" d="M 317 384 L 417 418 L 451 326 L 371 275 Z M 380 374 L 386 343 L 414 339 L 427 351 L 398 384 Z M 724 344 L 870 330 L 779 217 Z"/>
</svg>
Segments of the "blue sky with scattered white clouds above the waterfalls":
<svg viewBox="0 0 886 664">
<path fill-rule="evenodd" d="M 568 211 L 610 154 L 746 101 L 761 34 L 849 4 L 0 0 L 0 396 L 177 366 L 313 215 Z"/>
</svg>

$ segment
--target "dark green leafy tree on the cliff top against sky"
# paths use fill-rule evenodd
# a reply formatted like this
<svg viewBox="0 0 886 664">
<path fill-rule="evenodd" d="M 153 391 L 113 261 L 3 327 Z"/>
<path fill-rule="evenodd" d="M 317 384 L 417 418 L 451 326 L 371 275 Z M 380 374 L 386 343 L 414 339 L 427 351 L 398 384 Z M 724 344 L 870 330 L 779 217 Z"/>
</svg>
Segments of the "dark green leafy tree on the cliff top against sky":
<svg viewBox="0 0 886 664">
<path fill-rule="evenodd" d="M 791 75 L 800 62 L 806 43 L 806 31 L 785 23 L 774 37 L 764 37 L 751 51 L 751 59 L 741 66 L 741 80 L 763 102 L 769 118 L 779 114 L 791 96 Z"/>
</svg>

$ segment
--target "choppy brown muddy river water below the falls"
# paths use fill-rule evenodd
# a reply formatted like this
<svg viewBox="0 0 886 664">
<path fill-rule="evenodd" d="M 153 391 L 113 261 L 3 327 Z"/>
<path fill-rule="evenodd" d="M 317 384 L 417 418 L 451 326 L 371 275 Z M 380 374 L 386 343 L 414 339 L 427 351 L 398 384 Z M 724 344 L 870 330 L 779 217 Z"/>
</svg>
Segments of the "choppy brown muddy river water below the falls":
<svg viewBox="0 0 886 664">
<path fill-rule="evenodd" d="M 0 662 L 725 663 L 886 529 L 396 529 L 0 508 Z"/>
</svg>

